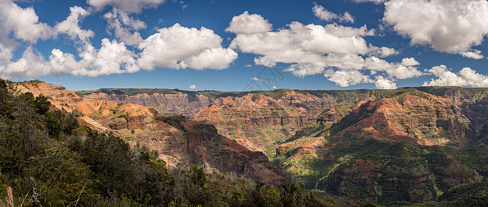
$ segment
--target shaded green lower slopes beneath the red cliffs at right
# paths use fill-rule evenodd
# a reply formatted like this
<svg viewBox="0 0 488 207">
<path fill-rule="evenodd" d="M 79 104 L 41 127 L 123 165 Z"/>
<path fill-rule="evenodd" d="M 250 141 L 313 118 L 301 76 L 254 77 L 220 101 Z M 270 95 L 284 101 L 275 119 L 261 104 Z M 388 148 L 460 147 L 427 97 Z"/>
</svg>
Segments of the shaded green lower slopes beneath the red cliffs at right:
<svg viewBox="0 0 488 207">
<path fill-rule="evenodd" d="M 467 184 L 486 186 L 487 146 L 457 150 L 367 137 L 360 130 L 326 137 L 324 150 L 315 155 L 287 148 L 279 160 L 308 189 L 373 204 L 402 206 L 424 201 L 448 204 L 451 200 L 456 202 L 449 204 L 464 204 L 460 202 L 464 195 L 453 189 Z M 297 156 L 301 159 L 294 158 Z M 484 193 L 480 191 L 476 196 Z"/>
</svg>

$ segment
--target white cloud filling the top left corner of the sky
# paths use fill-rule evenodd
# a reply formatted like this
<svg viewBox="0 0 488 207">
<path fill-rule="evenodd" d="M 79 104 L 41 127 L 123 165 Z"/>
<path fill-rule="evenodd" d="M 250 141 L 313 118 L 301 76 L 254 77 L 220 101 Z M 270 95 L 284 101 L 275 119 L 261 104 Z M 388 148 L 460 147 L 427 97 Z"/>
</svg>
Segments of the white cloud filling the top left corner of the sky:
<svg viewBox="0 0 488 207">
<path fill-rule="evenodd" d="M 12 32 L 17 39 L 36 43 L 56 35 L 46 23 L 39 22 L 34 8 L 21 8 L 12 1 L 0 1 L 0 34 Z"/>
</svg>

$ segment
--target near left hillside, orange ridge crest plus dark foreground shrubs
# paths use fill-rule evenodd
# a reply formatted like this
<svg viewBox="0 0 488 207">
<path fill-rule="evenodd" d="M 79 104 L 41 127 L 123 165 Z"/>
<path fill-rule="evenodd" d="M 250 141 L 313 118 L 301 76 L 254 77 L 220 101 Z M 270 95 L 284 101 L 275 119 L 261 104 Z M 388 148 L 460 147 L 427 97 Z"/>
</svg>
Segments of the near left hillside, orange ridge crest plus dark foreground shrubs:
<svg viewBox="0 0 488 207">
<path fill-rule="evenodd" d="M 158 156 L 182 164 L 167 168 Z M 205 173 L 212 167 L 220 172 Z M 212 125 L 86 99 L 41 81 L 0 79 L 0 206 L 337 204 L 345 203 L 291 184 L 261 152 Z"/>
</svg>

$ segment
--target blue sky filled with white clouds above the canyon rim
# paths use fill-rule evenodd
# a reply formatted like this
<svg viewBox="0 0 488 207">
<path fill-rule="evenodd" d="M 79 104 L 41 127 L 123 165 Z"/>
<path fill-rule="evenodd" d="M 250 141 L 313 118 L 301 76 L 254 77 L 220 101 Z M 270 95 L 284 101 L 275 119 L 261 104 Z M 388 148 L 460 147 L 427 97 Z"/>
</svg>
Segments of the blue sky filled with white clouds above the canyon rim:
<svg viewBox="0 0 488 207">
<path fill-rule="evenodd" d="M 486 0 L 0 0 L 0 77 L 70 90 L 488 87 Z"/>
</svg>

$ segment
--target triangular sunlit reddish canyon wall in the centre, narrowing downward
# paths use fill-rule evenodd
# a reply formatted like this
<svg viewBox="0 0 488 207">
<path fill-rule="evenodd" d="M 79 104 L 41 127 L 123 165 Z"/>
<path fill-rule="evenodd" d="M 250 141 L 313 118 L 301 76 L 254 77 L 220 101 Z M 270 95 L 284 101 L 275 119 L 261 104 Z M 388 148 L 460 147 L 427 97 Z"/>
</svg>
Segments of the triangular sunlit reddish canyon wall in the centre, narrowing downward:
<svg viewBox="0 0 488 207">
<path fill-rule="evenodd" d="M 369 95 L 348 97 L 358 103 Z M 221 134 L 238 141 L 250 150 L 265 152 L 274 157 L 276 146 L 294 136 L 295 132 L 317 121 L 317 115 L 339 101 L 324 94 L 321 97 L 306 92 L 289 90 L 281 97 L 248 93 L 243 97 L 215 99 L 212 106 L 201 110 L 195 119 L 210 121 Z"/>
</svg>

